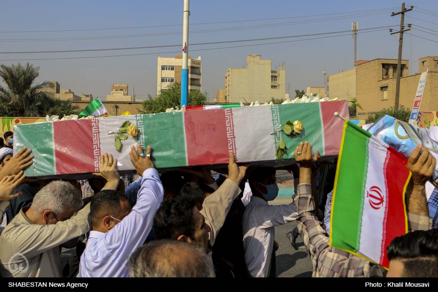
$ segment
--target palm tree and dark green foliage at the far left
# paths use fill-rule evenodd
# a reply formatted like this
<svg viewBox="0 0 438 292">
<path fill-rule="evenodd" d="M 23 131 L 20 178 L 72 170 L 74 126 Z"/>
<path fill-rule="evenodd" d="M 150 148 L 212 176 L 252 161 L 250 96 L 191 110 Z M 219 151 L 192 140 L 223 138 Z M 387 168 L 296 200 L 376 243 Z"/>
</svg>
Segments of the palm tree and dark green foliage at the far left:
<svg viewBox="0 0 438 292">
<path fill-rule="evenodd" d="M 49 81 L 36 83 L 39 67 L 27 63 L 0 66 L 0 76 L 6 86 L 0 86 L 0 116 L 46 116 L 50 113 L 76 113 L 71 101 L 56 99 L 52 93 L 42 91 L 52 87 Z"/>
</svg>

